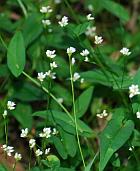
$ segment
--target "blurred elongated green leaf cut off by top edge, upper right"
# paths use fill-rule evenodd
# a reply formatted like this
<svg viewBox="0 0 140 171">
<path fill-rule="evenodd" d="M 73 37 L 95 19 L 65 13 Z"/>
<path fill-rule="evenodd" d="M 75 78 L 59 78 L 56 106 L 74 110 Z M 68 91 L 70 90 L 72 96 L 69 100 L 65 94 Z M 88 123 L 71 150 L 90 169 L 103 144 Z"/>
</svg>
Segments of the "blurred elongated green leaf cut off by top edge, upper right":
<svg viewBox="0 0 140 171">
<path fill-rule="evenodd" d="M 118 17 L 122 22 L 127 22 L 130 18 L 128 11 L 120 4 L 111 0 L 102 0 L 103 7 Z"/>
</svg>

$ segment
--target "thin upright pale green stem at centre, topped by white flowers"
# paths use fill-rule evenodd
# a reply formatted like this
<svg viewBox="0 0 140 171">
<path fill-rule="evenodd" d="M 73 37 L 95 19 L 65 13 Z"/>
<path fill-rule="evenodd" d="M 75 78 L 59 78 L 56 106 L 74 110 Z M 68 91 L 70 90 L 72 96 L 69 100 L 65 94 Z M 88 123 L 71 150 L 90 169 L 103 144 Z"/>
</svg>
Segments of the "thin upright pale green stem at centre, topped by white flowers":
<svg viewBox="0 0 140 171">
<path fill-rule="evenodd" d="M 79 134 L 78 134 L 78 126 L 77 126 L 77 117 L 76 117 L 76 109 L 75 109 L 75 94 L 74 94 L 74 85 L 73 85 L 73 72 L 72 72 L 72 63 L 71 63 L 71 55 L 69 54 L 69 66 L 70 66 L 70 80 L 71 80 L 71 91 L 72 91 L 72 103 L 73 103 L 73 115 L 74 115 L 74 122 L 75 122 L 75 130 L 76 130 L 76 137 L 77 137 L 77 143 L 79 147 L 79 151 L 81 154 L 82 162 L 84 168 L 86 167 L 84 157 L 83 157 L 83 152 L 82 148 L 80 145 L 80 139 L 79 139 Z"/>
</svg>

